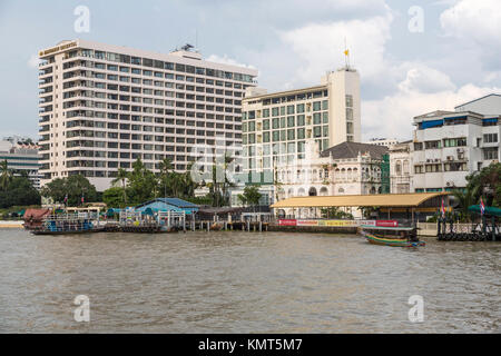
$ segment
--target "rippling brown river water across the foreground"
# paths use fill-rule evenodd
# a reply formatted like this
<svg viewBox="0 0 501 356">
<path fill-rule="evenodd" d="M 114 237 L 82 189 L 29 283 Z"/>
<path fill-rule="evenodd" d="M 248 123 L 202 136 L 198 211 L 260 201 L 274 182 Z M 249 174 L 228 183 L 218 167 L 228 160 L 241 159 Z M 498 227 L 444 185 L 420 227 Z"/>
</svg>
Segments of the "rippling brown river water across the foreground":
<svg viewBox="0 0 501 356">
<path fill-rule="evenodd" d="M 1 333 L 500 333 L 501 244 L 0 230 Z M 77 323 L 86 295 L 90 322 Z M 411 323 L 420 295 L 424 320 Z"/>
</svg>

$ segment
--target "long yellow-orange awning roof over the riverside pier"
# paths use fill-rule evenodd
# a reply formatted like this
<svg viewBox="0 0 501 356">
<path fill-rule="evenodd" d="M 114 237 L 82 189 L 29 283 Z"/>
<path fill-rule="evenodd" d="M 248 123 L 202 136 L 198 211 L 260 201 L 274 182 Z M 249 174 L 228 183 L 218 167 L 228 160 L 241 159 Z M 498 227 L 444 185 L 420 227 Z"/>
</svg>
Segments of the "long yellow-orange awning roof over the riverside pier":
<svg viewBox="0 0 501 356">
<path fill-rule="evenodd" d="M 410 192 L 410 194 L 375 194 L 361 196 L 325 196 L 294 197 L 272 205 L 272 208 L 303 207 L 418 207 L 424 201 L 448 195 L 448 192 Z"/>
</svg>

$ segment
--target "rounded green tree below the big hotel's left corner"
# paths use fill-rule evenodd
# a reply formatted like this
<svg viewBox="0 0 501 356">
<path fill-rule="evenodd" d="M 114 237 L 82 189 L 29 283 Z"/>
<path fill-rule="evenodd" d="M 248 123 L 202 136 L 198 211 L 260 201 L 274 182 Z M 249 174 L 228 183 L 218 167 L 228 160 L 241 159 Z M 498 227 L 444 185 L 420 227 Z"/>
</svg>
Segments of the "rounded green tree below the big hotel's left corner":
<svg viewBox="0 0 501 356">
<path fill-rule="evenodd" d="M 68 206 L 81 205 L 81 197 L 85 202 L 97 201 L 98 194 L 96 187 L 89 180 L 81 176 L 75 175 L 65 178 L 56 178 L 51 182 L 43 186 L 41 194 L 45 197 L 50 197 L 55 202 L 63 202 L 66 195 L 68 195 Z"/>
</svg>

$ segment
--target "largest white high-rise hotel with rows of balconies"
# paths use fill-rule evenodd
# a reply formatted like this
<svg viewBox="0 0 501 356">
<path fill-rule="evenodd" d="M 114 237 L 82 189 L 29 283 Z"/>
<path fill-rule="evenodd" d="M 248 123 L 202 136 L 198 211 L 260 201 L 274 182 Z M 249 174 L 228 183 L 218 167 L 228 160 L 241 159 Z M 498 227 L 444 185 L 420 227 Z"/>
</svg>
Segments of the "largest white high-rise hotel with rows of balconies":
<svg viewBox="0 0 501 356">
<path fill-rule="evenodd" d="M 39 52 L 41 185 L 84 175 L 107 189 L 141 158 L 177 171 L 242 145 L 242 100 L 257 70 L 205 61 L 189 47 L 168 55 L 85 40 Z M 239 149 L 237 149 L 237 155 Z"/>
</svg>

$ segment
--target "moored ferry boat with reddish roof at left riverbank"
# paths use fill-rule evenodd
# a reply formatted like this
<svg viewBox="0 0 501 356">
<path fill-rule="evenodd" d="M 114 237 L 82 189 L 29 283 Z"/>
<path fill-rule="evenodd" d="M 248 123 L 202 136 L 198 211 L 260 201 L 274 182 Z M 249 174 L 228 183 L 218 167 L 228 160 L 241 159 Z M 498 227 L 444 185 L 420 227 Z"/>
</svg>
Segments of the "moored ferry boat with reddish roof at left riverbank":
<svg viewBox="0 0 501 356">
<path fill-rule="evenodd" d="M 99 219 L 88 214 L 58 214 L 49 215 L 40 227 L 31 229 L 33 235 L 68 235 L 101 231 Z"/>
</svg>

